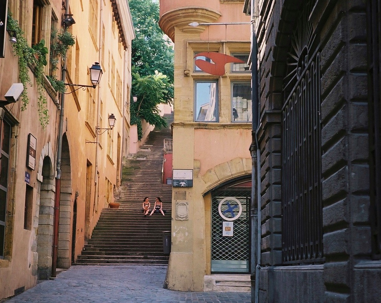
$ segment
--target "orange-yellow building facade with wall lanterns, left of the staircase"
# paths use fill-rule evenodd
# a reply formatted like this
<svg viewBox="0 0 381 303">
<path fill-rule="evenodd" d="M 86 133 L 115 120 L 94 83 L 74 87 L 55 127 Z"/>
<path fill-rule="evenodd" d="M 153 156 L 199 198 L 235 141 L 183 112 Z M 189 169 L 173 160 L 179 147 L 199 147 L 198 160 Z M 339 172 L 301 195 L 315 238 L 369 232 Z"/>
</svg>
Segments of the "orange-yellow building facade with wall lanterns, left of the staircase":
<svg viewBox="0 0 381 303">
<path fill-rule="evenodd" d="M 52 275 L 57 197 L 56 266 L 69 268 L 91 236 L 102 208 L 109 207 L 118 194 L 122 157 L 129 153 L 134 38 L 126 1 L 25 0 L 8 1 L 6 7 L 18 20 L 29 46 L 45 40 L 49 53 L 43 73 L 60 80 L 66 61 L 64 82 L 79 86 L 68 85 L 66 94 L 61 95 L 44 75 L 43 89 L 39 90 L 35 68 L 29 63 L 31 86 L 27 86 L 26 109 L 22 110 L 21 99 L 11 104 L 0 102 L 0 149 L 5 155 L 0 184 L 0 300 Z M 58 68 L 51 72 L 52 34 L 62 31 L 64 21 L 75 44 L 66 59 L 58 58 Z M 5 32 L 0 101 L 6 100 L 13 84 L 21 82 L 11 36 Z M 21 37 L 16 39 L 19 42 Z M 89 69 L 94 63 L 99 63 L 103 72 L 96 88 L 91 87 Z M 48 110 L 45 128 L 38 119 L 41 95 Z M 107 129 L 111 128 L 111 115 L 115 126 Z"/>
</svg>

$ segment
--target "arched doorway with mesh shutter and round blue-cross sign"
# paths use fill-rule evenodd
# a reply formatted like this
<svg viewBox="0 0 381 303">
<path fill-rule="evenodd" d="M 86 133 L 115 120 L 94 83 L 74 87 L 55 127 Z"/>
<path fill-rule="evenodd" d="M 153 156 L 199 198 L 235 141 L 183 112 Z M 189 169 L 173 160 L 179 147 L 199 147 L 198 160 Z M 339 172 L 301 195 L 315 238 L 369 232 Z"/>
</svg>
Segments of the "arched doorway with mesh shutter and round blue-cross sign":
<svg viewBox="0 0 381 303">
<path fill-rule="evenodd" d="M 211 192 L 211 273 L 249 273 L 251 178 Z"/>
</svg>

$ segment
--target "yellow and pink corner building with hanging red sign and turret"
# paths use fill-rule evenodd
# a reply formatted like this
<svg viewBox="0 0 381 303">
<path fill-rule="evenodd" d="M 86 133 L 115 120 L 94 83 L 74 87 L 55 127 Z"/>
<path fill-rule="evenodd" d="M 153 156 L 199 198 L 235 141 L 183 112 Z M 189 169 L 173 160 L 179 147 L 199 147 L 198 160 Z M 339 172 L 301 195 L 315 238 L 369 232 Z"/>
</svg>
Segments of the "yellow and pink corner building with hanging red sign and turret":
<svg viewBox="0 0 381 303">
<path fill-rule="evenodd" d="M 159 24 L 175 50 L 169 289 L 227 291 L 212 285 L 216 275 L 250 273 L 250 17 L 242 6 L 160 1 Z M 195 59 L 213 64 L 205 52 L 243 62 L 211 75 L 195 65 Z"/>
</svg>

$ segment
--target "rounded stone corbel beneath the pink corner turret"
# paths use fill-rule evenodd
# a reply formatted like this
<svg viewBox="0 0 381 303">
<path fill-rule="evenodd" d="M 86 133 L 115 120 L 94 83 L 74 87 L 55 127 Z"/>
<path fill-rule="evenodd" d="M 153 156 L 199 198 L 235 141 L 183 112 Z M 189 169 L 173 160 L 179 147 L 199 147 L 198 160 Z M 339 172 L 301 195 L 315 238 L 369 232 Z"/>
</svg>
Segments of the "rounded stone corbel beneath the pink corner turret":
<svg viewBox="0 0 381 303">
<path fill-rule="evenodd" d="M 201 33 L 207 26 L 192 27 L 191 22 L 207 23 L 215 22 L 221 13 L 210 8 L 198 6 L 186 6 L 167 11 L 160 17 L 159 26 L 174 42 L 174 27 L 178 27 L 183 32 Z"/>
</svg>

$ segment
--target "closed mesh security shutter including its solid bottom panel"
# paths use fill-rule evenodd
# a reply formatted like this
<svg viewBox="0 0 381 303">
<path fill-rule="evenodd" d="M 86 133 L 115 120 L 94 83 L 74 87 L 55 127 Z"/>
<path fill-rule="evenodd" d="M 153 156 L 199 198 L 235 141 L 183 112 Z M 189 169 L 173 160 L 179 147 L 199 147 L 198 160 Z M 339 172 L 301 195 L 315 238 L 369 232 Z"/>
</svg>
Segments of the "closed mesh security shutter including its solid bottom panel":
<svg viewBox="0 0 381 303">
<path fill-rule="evenodd" d="M 223 222 L 218 211 L 218 205 L 226 197 L 238 199 L 242 205 L 242 213 L 233 222 L 233 236 L 223 236 Z M 212 273 L 235 272 L 248 273 L 250 260 L 250 199 L 251 192 L 247 189 L 225 189 L 212 192 L 211 207 L 211 263 Z M 221 212 L 226 205 L 221 206 Z M 239 208 L 233 210 L 237 216 Z M 232 216 L 228 213 L 226 216 Z"/>
</svg>

